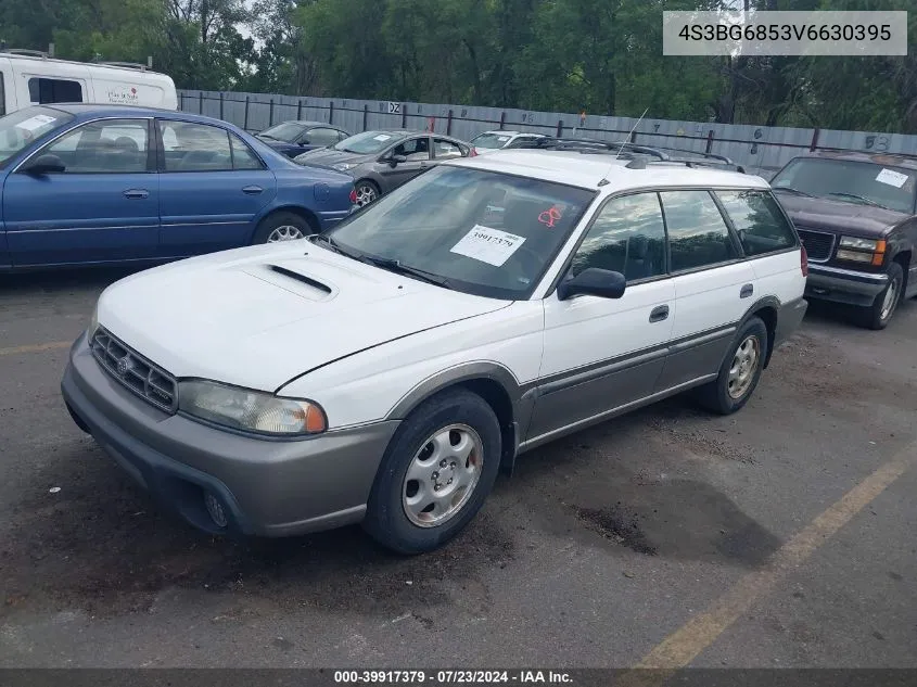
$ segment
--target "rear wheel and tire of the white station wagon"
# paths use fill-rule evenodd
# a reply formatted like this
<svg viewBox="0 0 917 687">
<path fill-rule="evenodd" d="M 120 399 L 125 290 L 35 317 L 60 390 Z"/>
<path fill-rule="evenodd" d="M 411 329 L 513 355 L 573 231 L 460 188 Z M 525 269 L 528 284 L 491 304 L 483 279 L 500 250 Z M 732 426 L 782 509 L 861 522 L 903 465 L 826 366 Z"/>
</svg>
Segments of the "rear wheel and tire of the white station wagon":
<svg viewBox="0 0 917 687">
<path fill-rule="evenodd" d="M 757 386 L 768 345 L 770 342 L 764 321 L 760 317 L 750 318 L 739 329 L 729 353 L 719 366 L 717 378 L 698 389 L 700 405 L 719 415 L 740 410 Z"/>
</svg>

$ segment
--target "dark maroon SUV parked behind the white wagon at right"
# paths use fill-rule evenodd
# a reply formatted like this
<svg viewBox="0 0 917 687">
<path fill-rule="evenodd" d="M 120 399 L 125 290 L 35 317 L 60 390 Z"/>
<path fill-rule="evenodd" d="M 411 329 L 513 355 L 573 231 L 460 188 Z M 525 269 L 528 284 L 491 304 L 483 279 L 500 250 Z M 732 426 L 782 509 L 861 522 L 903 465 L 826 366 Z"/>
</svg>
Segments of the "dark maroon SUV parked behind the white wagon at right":
<svg viewBox="0 0 917 687">
<path fill-rule="evenodd" d="M 808 297 L 857 306 L 863 326 L 884 329 L 917 296 L 917 158 L 818 152 L 772 185 L 808 253 Z"/>
</svg>

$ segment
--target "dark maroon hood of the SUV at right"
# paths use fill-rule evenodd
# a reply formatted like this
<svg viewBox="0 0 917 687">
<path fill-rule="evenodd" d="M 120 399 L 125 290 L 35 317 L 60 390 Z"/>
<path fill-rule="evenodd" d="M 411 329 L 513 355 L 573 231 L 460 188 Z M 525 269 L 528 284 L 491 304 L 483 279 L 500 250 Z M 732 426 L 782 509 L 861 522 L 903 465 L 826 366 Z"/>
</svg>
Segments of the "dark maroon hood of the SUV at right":
<svg viewBox="0 0 917 687">
<path fill-rule="evenodd" d="M 775 189 L 776 190 L 776 189 Z M 826 198 L 805 198 L 780 193 L 780 204 L 798 227 L 850 231 L 856 236 L 881 237 L 908 215 L 883 207 L 846 203 Z"/>
</svg>

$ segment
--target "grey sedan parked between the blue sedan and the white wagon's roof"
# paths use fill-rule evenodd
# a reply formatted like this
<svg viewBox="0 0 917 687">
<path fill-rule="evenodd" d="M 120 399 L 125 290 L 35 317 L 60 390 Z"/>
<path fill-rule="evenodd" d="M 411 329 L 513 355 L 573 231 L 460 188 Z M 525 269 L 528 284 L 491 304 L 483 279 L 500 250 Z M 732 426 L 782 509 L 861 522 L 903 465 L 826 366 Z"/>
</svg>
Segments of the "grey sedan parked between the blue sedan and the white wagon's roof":
<svg viewBox="0 0 917 687">
<path fill-rule="evenodd" d="M 375 199 L 445 160 L 468 157 L 471 147 L 450 136 L 423 131 L 373 130 L 294 160 L 301 165 L 344 171 L 354 178 L 357 205 Z"/>
</svg>

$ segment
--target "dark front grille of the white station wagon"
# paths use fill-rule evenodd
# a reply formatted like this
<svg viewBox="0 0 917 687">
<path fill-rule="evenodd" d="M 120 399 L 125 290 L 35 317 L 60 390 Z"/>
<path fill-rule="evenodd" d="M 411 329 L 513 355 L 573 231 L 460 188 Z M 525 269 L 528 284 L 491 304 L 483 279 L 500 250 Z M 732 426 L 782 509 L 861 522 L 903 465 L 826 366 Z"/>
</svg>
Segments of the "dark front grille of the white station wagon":
<svg viewBox="0 0 917 687">
<path fill-rule="evenodd" d="M 178 405 L 178 382 L 164 369 L 152 364 L 103 328 L 95 330 L 92 355 L 109 374 L 138 396 L 167 412 Z"/>
</svg>

